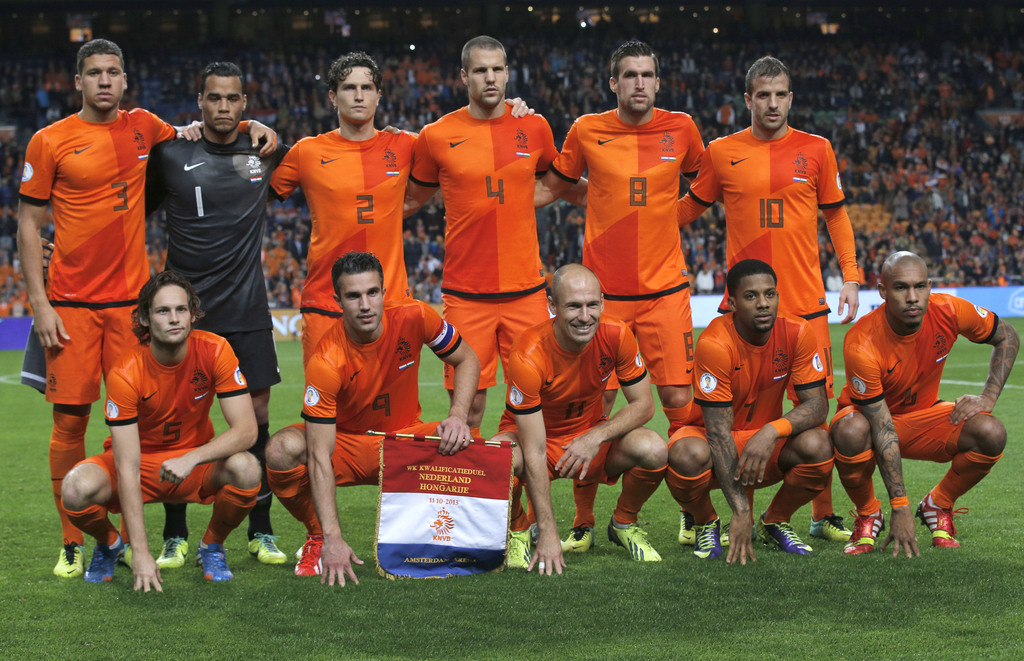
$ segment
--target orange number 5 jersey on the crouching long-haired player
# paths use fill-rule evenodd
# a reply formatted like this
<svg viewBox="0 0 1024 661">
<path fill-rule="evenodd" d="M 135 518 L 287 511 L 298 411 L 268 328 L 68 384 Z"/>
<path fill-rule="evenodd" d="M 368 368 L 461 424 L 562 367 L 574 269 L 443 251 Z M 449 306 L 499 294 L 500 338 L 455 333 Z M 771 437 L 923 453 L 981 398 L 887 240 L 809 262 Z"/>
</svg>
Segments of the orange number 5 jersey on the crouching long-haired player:
<svg viewBox="0 0 1024 661">
<path fill-rule="evenodd" d="M 163 365 L 148 345 L 126 351 L 106 378 L 106 424 L 138 424 L 142 452 L 187 450 L 213 438 L 211 393 L 249 392 L 231 346 L 218 335 L 194 329 L 188 352 Z"/>
</svg>

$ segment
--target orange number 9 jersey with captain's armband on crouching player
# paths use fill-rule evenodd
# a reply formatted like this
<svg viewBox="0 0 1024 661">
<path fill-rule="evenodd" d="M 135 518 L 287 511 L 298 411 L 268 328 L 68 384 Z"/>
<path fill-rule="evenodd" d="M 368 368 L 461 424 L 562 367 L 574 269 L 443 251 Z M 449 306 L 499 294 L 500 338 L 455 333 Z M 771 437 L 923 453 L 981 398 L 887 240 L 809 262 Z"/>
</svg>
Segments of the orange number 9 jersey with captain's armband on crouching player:
<svg viewBox="0 0 1024 661">
<path fill-rule="evenodd" d="M 443 358 L 462 343 L 455 326 L 419 301 L 384 308 L 384 333 L 353 342 L 339 321 L 306 365 L 302 417 L 344 434 L 394 432 L 420 422 L 420 350 Z"/>
</svg>

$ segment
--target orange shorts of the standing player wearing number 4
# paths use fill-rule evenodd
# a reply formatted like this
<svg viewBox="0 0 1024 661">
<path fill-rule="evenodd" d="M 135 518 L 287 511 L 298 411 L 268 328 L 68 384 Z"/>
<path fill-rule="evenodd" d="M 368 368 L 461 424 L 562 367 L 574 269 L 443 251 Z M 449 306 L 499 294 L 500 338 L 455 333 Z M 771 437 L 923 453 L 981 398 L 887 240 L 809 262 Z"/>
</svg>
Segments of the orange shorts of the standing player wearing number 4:
<svg viewBox="0 0 1024 661">
<path fill-rule="evenodd" d="M 444 294 L 442 316 L 458 328 L 480 359 L 478 390 L 498 384 L 498 358 L 508 373 L 512 343 L 523 330 L 550 319 L 544 291 L 509 299 L 466 299 Z M 455 369 L 444 364 L 444 388 L 454 387 Z"/>
</svg>

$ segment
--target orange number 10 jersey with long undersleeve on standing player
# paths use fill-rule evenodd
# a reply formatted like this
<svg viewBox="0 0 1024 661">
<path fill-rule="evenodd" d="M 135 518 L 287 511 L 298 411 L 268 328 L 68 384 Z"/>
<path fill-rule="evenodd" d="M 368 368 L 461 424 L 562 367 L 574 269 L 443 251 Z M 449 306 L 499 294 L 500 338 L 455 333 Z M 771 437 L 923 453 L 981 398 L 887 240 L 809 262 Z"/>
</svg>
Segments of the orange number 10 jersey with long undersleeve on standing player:
<svg viewBox="0 0 1024 661">
<path fill-rule="evenodd" d="M 846 202 L 828 140 L 796 129 L 775 140 L 759 140 L 750 129 L 713 140 L 690 195 L 707 207 L 725 205 L 729 268 L 744 259 L 772 265 L 779 312 L 827 314 L 818 209 Z M 856 279 L 853 230 L 836 232 L 833 244 L 846 279 Z"/>
</svg>

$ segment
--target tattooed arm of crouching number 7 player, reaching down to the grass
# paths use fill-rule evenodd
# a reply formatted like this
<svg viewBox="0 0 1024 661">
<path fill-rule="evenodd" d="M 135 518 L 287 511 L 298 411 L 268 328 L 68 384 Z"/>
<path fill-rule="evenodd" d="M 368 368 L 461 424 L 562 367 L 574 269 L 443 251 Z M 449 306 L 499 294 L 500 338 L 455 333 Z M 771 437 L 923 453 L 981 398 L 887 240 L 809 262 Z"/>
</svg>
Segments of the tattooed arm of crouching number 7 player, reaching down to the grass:
<svg viewBox="0 0 1024 661">
<path fill-rule="evenodd" d="M 739 456 L 736 453 L 736 442 L 732 438 L 732 406 L 701 406 L 700 409 L 703 412 L 715 477 L 732 509 L 726 562 L 731 565 L 738 560 L 740 565 L 745 565 L 748 558 L 751 562 L 756 562 L 751 503 L 746 499 L 746 491 L 736 478 Z"/>
</svg>

